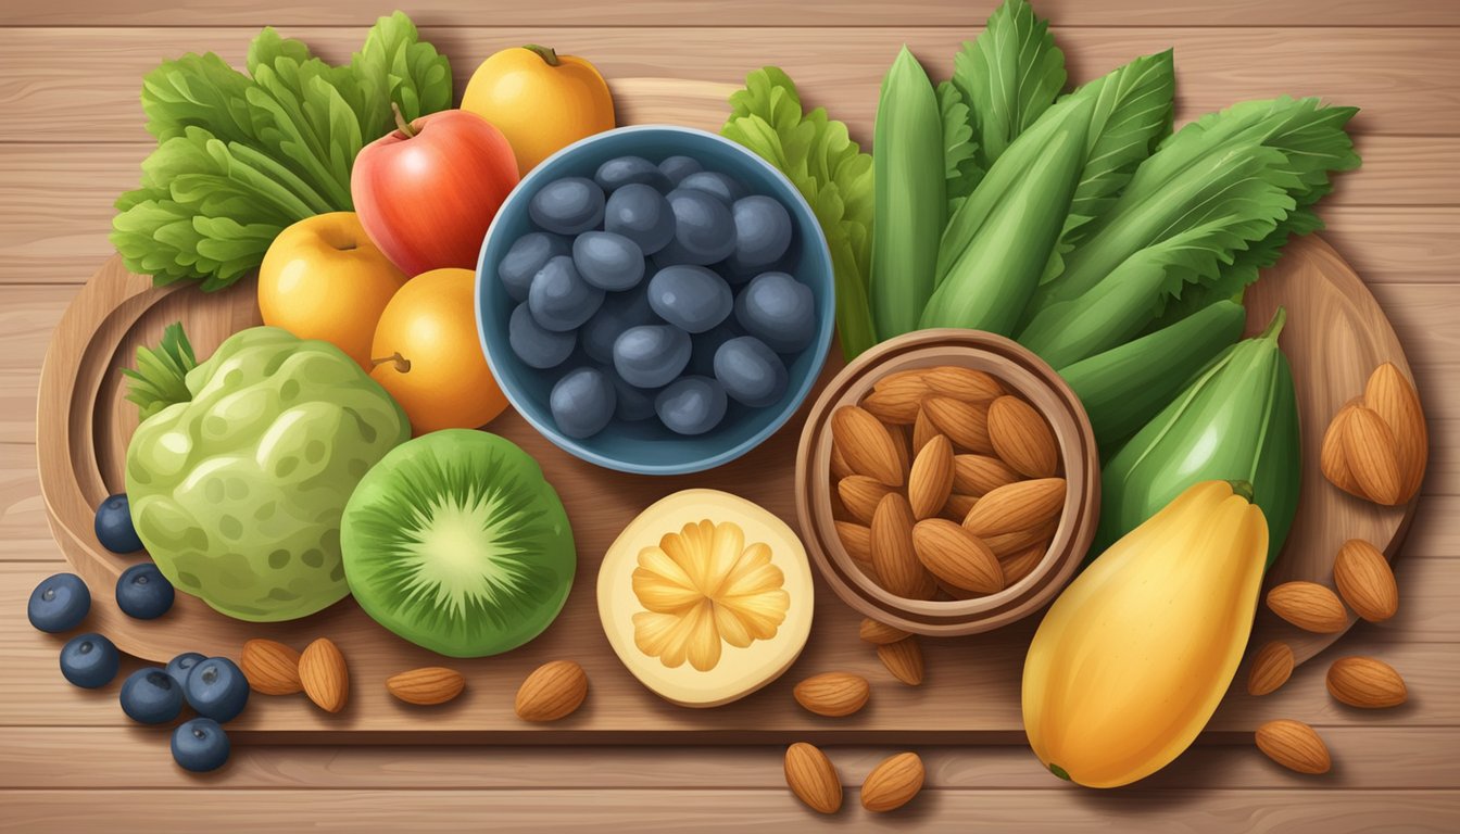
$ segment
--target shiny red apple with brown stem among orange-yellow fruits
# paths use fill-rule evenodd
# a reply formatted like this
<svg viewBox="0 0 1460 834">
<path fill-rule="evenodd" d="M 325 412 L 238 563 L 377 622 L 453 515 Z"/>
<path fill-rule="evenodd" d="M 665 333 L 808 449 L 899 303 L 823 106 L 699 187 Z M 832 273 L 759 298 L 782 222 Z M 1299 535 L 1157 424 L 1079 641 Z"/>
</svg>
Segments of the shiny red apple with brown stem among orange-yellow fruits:
<svg viewBox="0 0 1460 834">
<path fill-rule="evenodd" d="M 366 145 L 350 196 L 365 234 L 406 275 L 476 269 L 482 238 L 517 185 L 502 131 L 464 110 L 422 115 Z"/>
</svg>

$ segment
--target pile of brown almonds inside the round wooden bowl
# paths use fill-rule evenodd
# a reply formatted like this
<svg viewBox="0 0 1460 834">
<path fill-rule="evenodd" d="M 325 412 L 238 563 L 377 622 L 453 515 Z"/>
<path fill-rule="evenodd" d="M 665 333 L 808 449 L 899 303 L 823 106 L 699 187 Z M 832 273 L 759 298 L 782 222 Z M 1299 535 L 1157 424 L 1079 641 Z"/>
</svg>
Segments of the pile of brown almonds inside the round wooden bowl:
<svg viewBox="0 0 1460 834">
<path fill-rule="evenodd" d="M 914 368 L 831 419 L 837 535 L 907 599 L 997 593 L 1044 559 L 1066 483 L 1044 416 L 984 371 Z"/>
</svg>

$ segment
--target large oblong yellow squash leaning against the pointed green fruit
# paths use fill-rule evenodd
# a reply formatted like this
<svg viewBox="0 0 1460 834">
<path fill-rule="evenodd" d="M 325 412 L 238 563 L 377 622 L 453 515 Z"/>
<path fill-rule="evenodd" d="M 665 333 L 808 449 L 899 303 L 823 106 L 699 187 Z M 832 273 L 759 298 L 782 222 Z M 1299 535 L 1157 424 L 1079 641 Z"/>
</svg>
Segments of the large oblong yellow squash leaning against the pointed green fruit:
<svg viewBox="0 0 1460 834">
<path fill-rule="evenodd" d="M 1245 483 L 1204 481 L 1115 542 L 1040 624 L 1023 727 L 1056 776 L 1117 787 L 1191 745 L 1237 672 L 1267 561 Z"/>
</svg>

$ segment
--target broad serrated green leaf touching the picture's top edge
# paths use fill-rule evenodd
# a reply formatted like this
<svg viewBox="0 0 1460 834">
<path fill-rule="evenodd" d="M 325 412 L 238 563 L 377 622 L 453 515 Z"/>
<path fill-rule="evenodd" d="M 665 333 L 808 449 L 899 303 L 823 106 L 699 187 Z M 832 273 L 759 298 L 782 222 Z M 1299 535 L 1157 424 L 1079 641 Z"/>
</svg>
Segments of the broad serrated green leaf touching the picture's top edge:
<svg viewBox="0 0 1460 834">
<path fill-rule="evenodd" d="M 953 57 L 953 86 L 968 102 L 978 167 L 987 171 L 1064 88 L 1064 53 L 1028 0 L 1006 0 Z"/>
</svg>

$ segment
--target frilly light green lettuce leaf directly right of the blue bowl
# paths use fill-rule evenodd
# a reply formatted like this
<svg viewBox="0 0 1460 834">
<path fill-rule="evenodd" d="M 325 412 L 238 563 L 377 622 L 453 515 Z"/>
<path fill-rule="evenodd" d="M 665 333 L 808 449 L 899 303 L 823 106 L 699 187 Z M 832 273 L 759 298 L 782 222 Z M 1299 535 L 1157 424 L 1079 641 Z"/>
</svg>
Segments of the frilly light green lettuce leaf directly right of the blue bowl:
<svg viewBox="0 0 1460 834">
<path fill-rule="evenodd" d="M 876 343 L 867 308 L 872 259 L 872 155 L 823 108 L 802 99 L 778 67 L 764 67 L 730 95 L 721 136 L 775 165 L 806 197 L 831 248 L 837 283 L 837 332 L 850 359 Z"/>
</svg>

